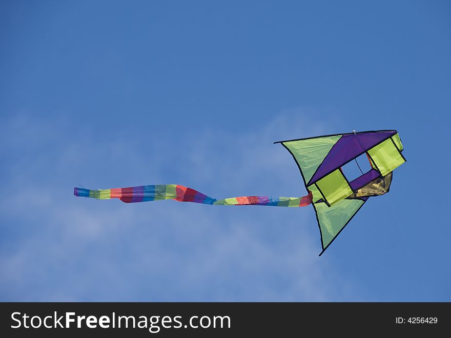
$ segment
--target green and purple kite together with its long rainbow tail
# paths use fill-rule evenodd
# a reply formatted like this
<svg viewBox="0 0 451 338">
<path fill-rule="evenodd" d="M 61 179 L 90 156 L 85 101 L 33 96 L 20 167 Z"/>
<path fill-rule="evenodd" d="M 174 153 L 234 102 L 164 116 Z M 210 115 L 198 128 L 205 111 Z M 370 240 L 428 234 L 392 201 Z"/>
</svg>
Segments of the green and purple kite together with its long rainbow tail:
<svg viewBox="0 0 451 338">
<path fill-rule="evenodd" d="M 312 138 L 278 141 L 296 161 L 308 195 L 303 197 L 242 196 L 215 199 L 181 185 L 147 185 L 90 190 L 74 195 L 96 199 L 119 198 L 126 203 L 175 199 L 220 206 L 305 207 L 312 205 L 321 235 L 321 256 L 370 197 L 389 191 L 393 170 L 406 162 L 396 130 L 353 131 Z M 364 156 L 368 170 L 357 159 Z M 343 167 L 355 161 L 361 175 L 347 177 Z"/>
</svg>

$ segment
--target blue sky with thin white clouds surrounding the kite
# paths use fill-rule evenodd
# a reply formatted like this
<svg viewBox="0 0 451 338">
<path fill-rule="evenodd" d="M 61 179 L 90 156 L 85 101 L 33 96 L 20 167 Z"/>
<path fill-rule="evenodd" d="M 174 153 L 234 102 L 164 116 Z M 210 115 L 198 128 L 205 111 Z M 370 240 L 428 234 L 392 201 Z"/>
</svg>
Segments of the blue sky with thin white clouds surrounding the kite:
<svg viewBox="0 0 451 338">
<path fill-rule="evenodd" d="M 0 4 L 0 300 L 451 301 L 451 6 Z M 76 198 L 181 184 L 303 196 L 274 141 L 397 129 L 407 163 L 318 257 L 313 208 Z"/>
</svg>

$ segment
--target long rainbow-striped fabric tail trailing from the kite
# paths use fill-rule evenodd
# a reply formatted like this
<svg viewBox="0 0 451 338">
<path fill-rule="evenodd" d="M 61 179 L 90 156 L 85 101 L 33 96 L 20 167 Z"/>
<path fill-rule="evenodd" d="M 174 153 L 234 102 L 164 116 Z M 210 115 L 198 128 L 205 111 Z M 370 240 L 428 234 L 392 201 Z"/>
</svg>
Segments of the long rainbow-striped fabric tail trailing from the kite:
<svg viewBox="0 0 451 338">
<path fill-rule="evenodd" d="M 305 207 L 312 203 L 312 192 L 304 197 L 242 196 L 216 199 L 197 190 L 175 184 L 138 186 L 130 188 L 90 190 L 74 188 L 74 195 L 97 199 L 119 198 L 122 202 L 134 203 L 152 200 L 175 199 L 180 202 L 194 202 L 218 206 L 275 206 Z"/>
</svg>

